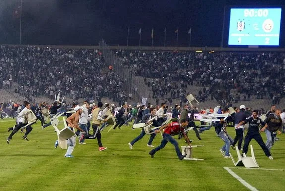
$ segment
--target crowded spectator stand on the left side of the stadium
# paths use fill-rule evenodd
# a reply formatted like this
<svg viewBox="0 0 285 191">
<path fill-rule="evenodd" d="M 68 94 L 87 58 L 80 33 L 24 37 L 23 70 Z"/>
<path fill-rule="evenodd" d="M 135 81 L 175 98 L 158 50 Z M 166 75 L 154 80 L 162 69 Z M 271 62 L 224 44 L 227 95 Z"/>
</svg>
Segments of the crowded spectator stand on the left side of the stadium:
<svg viewBox="0 0 285 191">
<path fill-rule="evenodd" d="M 123 102 L 120 77 L 108 68 L 102 53 L 94 49 L 70 49 L 35 46 L 0 47 L 0 88 L 12 88 L 24 95 L 45 95 L 54 99 L 57 93 L 71 97 L 98 100 L 108 97 Z M 104 88 L 103 88 L 104 87 Z"/>
</svg>

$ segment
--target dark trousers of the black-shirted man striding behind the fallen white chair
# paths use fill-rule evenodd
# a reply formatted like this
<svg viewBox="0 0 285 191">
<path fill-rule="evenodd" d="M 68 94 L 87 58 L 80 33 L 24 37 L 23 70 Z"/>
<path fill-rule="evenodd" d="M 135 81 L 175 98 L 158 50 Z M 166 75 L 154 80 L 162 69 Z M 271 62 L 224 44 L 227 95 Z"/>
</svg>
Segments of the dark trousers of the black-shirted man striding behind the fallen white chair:
<svg viewBox="0 0 285 191">
<path fill-rule="evenodd" d="M 257 143 L 259 144 L 259 146 L 262 148 L 262 150 L 263 150 L 263 152 L 264 152 L 264 154 L 265 154 L 266 156 L 270 156 L 270 155 L 271 155 L 270 152 L 269 152 L 269 150 L 268 150 L 268 148 L 266 147 L 265 143 L 263 142 L 261 135 L 260 135 L 258 132 L 257 132 L 257 133 L 254 133 L 254 134 L 248 132 L 248 133 L 246 134 L 246 136 L 244 137 L 244 145 L 243 145 L 243 149 L 242 149 L 242 152 L 243 152 L 243 153 L 245 153 L 245 154 L 247 153 L 247 151 L 248 151 L 248 145 L 249 145 L 251 139 L 256 140 L 256 142 L 257 142 Z"/>
</svg>

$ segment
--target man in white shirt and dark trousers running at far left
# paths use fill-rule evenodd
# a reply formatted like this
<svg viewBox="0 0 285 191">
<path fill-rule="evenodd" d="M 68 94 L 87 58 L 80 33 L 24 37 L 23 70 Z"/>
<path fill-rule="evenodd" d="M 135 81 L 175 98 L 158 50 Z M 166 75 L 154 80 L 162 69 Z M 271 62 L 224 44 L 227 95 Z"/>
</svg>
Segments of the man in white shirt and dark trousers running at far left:
<svg viewBox="0 0 285 191">
<path fill-rule="evenodd" d="M 27 120 L 27 114 L 29 112 L 32 112 L 30 110 L 30 103 L 29 102 L 24 102 L 24 106 L 25 108 L 19 113 L 19 116 L 17 117 L 17 125 L 15 126 L 15 129 L 12 131 L 12 133 L 10 134 L 10 136 L 7 138 L 7 143 L 10 144 L 10 140 L 12 139 L 12 137 L 14 136 L 14 134 L 16 134 L 16 132 L 18 132 L 22 127 L 24 127 L 25 125 L 28 124 L 28 120 Z M 30 111 L 29 111 L 30 110 Z M 31 125 L 26 127 L 26 133 L 25 135 L 22 137 L 23 139 L 28 141 L 28 134 L 33 130 L 33 127 L 31 127 Z"/>
</svg>

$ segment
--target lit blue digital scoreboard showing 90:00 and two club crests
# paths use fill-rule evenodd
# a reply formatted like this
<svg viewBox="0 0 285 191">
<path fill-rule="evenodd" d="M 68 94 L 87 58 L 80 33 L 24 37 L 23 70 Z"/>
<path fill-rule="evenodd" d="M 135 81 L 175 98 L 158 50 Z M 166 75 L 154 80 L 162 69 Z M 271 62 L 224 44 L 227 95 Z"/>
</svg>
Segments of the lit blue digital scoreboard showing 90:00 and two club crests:
<svg viewBox="0 0 285 191">
<path fill-rule="evenodd" d="M 278 46 L 281 8 L 231 8 L 228 45 Z"/>
</svg>

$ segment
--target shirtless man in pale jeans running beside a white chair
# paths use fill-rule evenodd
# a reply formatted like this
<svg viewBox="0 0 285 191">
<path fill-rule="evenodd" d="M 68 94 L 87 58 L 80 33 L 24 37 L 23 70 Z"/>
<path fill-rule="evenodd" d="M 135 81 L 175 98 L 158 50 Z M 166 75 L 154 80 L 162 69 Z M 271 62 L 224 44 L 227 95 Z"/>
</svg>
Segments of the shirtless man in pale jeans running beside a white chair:
<svg viewBox="0 0 285 191">
<path fill-rule="evenodd" d="M 82 109 L 83 109 L 82 107 L 76 106 L 74 108 L 75 113 L 66 119 L 66 121 L 68 123 L 68 128 L 70 130 L 74 131 L 74 133 L 76 132 L 76 129 L 80 130 L 83 134 L 85 133 L 85 131 L 82 130 L 78 126 L 80 115 L 82 114 Z M 67 145 L 68 145 L 68 148 L 67 148 L 67 151 L 66 151 L 64 156 L 68 157 L 68 158 L 74 158 L 74 156 L 72 155 L 72 152 L 73 152 L 74 147 L 76 145 L 76 135 L 73 135 L 72 137 L 68 138 Z M 58 140 L 56 140 L 55 148 L 57 148 L 57 146 L 58 146 Z"/>
</svg>

